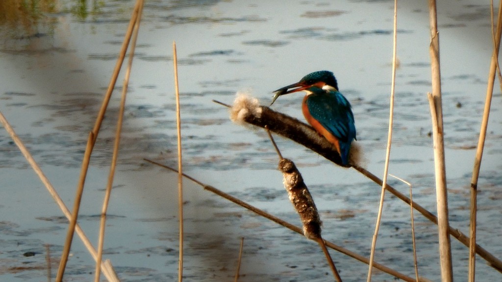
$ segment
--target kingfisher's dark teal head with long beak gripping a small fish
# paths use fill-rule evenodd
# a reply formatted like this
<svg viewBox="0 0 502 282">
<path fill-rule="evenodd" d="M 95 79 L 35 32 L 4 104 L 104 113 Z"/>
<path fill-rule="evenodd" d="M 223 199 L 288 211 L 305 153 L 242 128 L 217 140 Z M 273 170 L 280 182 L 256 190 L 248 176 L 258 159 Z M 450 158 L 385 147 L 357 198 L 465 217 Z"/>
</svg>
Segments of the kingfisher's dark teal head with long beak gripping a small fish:
<svg viewBox="0 0 502 282">
<path fill-rule="evenodd" d="M 285 86 L 274 91 L 274 99 L 272 103 L 276 101 L 279 96 L 290 94 L 293 92 L 304 91 L 310 87 L 317 87 L 320 89 L 329 89 L 338 91 L 338 84 L 336 83 L 336 78 L 332 72 L 329 71 L 318 71 L 310 73 L 304 76 L 299 82 Z"/>
</svg>

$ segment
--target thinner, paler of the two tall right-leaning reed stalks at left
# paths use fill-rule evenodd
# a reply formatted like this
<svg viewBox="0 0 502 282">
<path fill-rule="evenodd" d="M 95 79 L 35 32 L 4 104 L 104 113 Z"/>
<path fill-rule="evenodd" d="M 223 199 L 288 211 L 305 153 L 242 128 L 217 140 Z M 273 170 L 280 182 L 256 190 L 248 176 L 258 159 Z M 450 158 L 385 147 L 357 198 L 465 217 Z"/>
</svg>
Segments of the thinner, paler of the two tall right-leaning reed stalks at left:
<svg viewBox="0 0 502 282">
<path fill-rule="evenodd" d="M 104 193 L 103 206 L 101 208 L 101 220 L 99 225 L 99 238 L 97 247 L 97 260 L 96 260 L 96 270 L 94 273 L 94 282 L 99 282 L 99 277 L 101 275 L 101 260 L 103 255 L 103 244 L 104 244 L 104 231 L 106 226 L 106 211 L 108 210 L 108 203 L 111 195 L 111 188 L 113 187 L 113 179 L 115 177 L 115 168 L 117 165 L 118 150 L 120 148 L 120 134 L 122 132 L 122 122 L 124 109 L 126 108 L 126 97 L 129 87 L 129 79 L 131 77 L 131 68 L 133 67 L 134 52 L 136 50 L 136 42 L 138 40 L 138 34 L 140 31 L 141 16 L 143 12 L 143 0 L 138 0 L 140 3 L 140 9 L 138 11 L 138 18 L 134 25 L 133 38 L 131 42 L 131 51 L 129 54 L 128 66 L 126 69 L 126 75 L 124 76 L 122 84 L 122 95 L 120 97 L 120 106 L 118 110 L 117 127 L 115 130 L 115 142 L 113 144 L 113 154 L 111 156 L 110 171 L 108 173 L 108 181 L 106 183 L 106 190 Z"/>
</svg>

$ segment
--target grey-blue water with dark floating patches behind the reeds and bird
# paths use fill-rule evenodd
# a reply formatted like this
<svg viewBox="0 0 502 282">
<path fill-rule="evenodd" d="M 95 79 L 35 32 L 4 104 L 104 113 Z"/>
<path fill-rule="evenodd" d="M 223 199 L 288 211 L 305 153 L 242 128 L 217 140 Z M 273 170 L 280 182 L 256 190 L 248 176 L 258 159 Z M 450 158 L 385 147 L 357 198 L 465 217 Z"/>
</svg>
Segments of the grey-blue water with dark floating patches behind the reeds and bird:
<svg viewBox="0 0 502 282">
<path fill-rule="evenodd" d="M 491 54 L 489 7 L 476 1 L 438 8 L 447 178 L 451 225 L 468 233 L 469 183 Z M 94 124 L 134 5 L 89 4 L 69 13 L 61 2 L 50 25 L 0 45 L 0 110 L 15 127 L 68 206 L 72 205 L 88 131 Z M 262 104 L 271 91 L 327 69 L 350 100 L 357 143 L 369 171 L 383 172 L 391 81 L 393 3 L 389 1 L 148 1 L 135 57 L 105 238 L 123 281 L 177 277 L 176 175 L 143 158 L 177 166 L 172 42 L 178 48 L 185 172 L 259 208 L 299 224 L 276 170 L 278 158 L 262 130 L 233 124 L 227 109 L 237 91 Z M 390 173 L 413 184 L 414 199 L 435 211 L 429 27 L 426 3 L 399 9 L 395 132 Z M 31 36 L 30 36 L 31 35 Z M 34 36 L 35 35 L 35 36 Z M 121 78 L 118 80 L 121 84 Z M 91 160 L 79 223 L 97 241 L 99 212 L 118 114 L 117 86 Z M 478 242 L 502 257 L 500 91 L 495 88 L 479 180 Z M 301 95 L 274 109 L 303 119 Z M 305 178 L 324 222 L 323 235 L 368 255 L 380 187 L 351 169 L 335 167 L 278 138 Z M 52 275 L 66 221 L 7 133 L 0 131 L 0 277 L 46 280 Z M 233 279 L 244 237 L 241 281 L 333 280 L 316 243 L 185 181 L 186 279 Z M 390 180 L 403 193 L 408 186 Z M 386 198 L 375 260 L 413 276 L 409 207 Z M 420 274 L 439 280 L 436 227 L 416 214 Z M 452 239 L 456 280 L 466 280 L 467 249 Z M 344 281 L 359 281 L 367 266 L 331 252 Z M 93 261 L 74 240 L 68 281 L 93 278 Z M 500 273 L 478 260 L 479 280 Z M 375 279 L 393 280 L 376 271 Z"/>
</svg>

